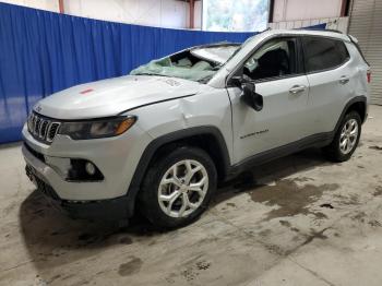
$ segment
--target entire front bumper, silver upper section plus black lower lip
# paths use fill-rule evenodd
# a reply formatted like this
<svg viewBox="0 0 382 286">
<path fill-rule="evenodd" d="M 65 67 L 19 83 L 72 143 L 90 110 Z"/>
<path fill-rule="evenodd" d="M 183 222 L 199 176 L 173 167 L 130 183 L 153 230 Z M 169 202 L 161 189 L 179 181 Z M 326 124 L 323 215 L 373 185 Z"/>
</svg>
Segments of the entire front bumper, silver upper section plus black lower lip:
<svg viewBox="0 0 382 286">
<path fill-rule="evenodd" d="M 38 189 L 45 190 L 46 196 L 60 208 L 84 218 L 133 215 L 135 195 L 128 190 L 151 140 L 138 124 L 108 139 L 74 141 L 58 134 L 50 145 L 36 141 L 24 126 L 23 138 L 22 153 L 28 168 L 34 170 L 33 176 L 38 178 Z M 67 180 L 64 170 L 71 158 L 94 163 L 105 178 L 99 181 Z"/>
</svg>

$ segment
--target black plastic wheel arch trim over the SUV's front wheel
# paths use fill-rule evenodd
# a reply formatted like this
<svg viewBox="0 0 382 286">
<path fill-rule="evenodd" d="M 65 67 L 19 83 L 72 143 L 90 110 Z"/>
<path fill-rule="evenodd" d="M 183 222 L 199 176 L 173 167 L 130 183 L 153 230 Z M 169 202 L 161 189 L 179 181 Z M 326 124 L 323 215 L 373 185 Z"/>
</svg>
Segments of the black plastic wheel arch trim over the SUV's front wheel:
<svg viewBox="0 0 382 286">
<path fill-rule="evenodd" d="M 216 166 L 219 180 L 228 176 L 230 168 L 229 153 L 225 139 L 216 127 L 188 128 L 156 138 L 144 150 L 130 182 L 127 194 L 130 216 L 134 213 L 136 195 L 150 164 L 169 147 L 182 144 L 198 146 L 206 151 Z"/>
</svg>

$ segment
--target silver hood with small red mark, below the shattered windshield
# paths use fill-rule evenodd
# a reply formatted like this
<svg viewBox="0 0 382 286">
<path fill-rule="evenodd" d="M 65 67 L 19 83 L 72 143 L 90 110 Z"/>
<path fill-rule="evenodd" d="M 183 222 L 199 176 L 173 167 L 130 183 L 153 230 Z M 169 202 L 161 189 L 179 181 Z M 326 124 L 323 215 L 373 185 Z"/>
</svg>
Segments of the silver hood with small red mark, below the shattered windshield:
<svg viewBox="0 0 382 286">
<path fill-rule="evenodd" d="M 109 117 L 139 106 L 192 95 L 200 88 L 200 83 L 181 79 L 126 75 L 52 94 L 41 99 L 34 110 L 56 119 Z"/>
</svg>

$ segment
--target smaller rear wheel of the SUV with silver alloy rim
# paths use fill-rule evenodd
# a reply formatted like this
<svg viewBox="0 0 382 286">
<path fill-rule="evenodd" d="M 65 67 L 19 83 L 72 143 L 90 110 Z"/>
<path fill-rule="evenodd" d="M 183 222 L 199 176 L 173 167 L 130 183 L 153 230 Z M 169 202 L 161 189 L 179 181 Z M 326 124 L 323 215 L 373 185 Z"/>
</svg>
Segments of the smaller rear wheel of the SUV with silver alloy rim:
<svg viewBox="0 0 382 286">
<path fill-rule="evenodd" d="M 329 158 L 333 162 L 348 160 L 356 151 L 360 134 L 360 116 L 356 111 L 350 111 L 344 117 L 333 142 L 324 148 Z"/>
</svg>

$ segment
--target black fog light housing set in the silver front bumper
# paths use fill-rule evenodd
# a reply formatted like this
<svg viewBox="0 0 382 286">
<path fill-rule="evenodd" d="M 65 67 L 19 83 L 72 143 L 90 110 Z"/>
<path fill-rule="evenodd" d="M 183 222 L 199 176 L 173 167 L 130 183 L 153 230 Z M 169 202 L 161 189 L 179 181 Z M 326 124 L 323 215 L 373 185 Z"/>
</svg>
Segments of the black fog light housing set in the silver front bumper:
<svg viewBox="0 0 382 286">
<path fill-rule="evenodd" d="M 86 159 L 70 159 L 67 181 L 100 181 L 104 175 L 97 166 Z"/>
</svg>

